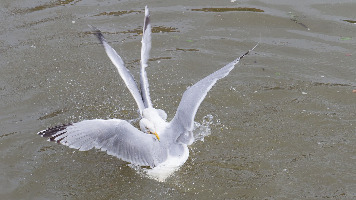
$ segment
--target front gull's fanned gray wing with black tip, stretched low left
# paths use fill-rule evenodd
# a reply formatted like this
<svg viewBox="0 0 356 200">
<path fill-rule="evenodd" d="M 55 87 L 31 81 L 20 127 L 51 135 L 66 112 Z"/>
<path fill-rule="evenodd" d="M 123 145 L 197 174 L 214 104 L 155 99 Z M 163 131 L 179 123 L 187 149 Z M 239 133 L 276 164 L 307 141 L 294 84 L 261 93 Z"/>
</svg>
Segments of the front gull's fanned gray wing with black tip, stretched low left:
<svg viewBox="0 0 356 200">
<path fill-rule="evenodd" d="M 141 166 L 155 167 L 167 159 L 167 151 L 157 140 L 125 120 L 85 120 L 52 127 L 37 134 L 79 151 L 95 147 Z"/>
</svg>

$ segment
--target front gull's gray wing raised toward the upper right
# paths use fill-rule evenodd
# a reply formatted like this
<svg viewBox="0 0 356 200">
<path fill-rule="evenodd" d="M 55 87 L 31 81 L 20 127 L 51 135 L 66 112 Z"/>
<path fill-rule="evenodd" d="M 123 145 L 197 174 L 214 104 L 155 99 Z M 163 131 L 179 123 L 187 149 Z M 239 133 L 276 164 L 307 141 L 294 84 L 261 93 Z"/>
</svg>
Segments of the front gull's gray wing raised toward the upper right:
<svg viewBox="0 0 356 200">
<path fill-rule="evenodd" d="M 208 91 L 213 87 L 217 80 L 226 77 L 227 74 L 234 69 L 235 64 L 237 64 L 241 58 L 250 53 L 256 46 L 244 55 L 227 64 L 225 67 L 201 79 L 198 83 L 195 83 L 193 86 L 188 87 L 188 89 L 185 90 L 182 99 L 180 100 L 176 115 L 174 115 L 171 122 L 171 126 L 179 130 L 176 132 L 176 138 L 178 141 L 185 144 L 192 144 L 194 142 L 192 132 L 194 117 L 206 94 L 208 94 Z"/>
</svg>

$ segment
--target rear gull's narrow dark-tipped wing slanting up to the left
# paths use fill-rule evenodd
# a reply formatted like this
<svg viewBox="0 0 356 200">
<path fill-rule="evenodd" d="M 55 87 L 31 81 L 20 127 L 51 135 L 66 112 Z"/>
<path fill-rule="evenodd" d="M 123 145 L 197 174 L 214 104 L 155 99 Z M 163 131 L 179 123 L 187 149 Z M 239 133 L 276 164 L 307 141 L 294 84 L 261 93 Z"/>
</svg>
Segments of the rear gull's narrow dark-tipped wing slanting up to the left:
<svg viewBox="0 0 356 200">
<path fill-rule="evenodd" d="M 106 54 L 108 54 L 112 63 L 114 63 L 117 71 L 119 72 L 122 80 L 124 80 L 126 87 L 130 90 L 130 93 L 135 99 L 136 104 L 138 106 L 138 110 L 140 111 L 140 116 L 142 118 L 142 111 L 145 109 L 145 105 L 143 104 L 142 97 L 140 91 L 138 90 L 135 79 L 132 77 L 132 74 L 126 69 L 124 65 L 124 61 L 122 61 L 121 57 L 116 53 L 116 51 L 106 42 L 103 33 L 101 31 L 91 25 L 88 25 L 91 30 L 95 32 L 95 35 L 98 37 L 99 41 L 103 45 Z"/>
</svg>

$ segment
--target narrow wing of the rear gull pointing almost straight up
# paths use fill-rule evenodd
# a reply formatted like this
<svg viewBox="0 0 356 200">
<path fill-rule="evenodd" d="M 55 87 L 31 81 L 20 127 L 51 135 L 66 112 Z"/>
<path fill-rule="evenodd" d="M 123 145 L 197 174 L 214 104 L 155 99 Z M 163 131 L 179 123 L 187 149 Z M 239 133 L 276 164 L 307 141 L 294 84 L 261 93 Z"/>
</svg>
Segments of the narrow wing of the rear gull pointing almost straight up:
<svg viewBox="0 0 356 200">
<path fill-rule="evenodd" d="M 145 7 L 145 21 L 143 22 L 143 33 L 142 33 L 142 47 L 141 47 L 141 69 L 140 69 L 140 88 L 141 96 L 145 107 L 152 107 L 152 101 L 150 97 L 150 88 L 147 79 L 147 73 L 145 68 L 148 66 L 147 61 L 150 58 L 151 50 L 151 22 L 150 22 L 150 10 Z"/>
</svg>

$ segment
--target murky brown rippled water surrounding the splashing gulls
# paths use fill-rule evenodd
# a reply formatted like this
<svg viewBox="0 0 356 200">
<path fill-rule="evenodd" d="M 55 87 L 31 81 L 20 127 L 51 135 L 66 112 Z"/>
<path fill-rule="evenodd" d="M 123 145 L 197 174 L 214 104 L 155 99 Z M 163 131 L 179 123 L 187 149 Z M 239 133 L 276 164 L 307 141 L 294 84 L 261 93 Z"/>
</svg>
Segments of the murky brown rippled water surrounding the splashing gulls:
<svg viewBox="0 0 356 200">
<path fill-rule="evenodd" d="M 189 146 L 187 162 L 163 183 L 105 152 L 37 136 L 68 122 L 137 118 L 87 24 L 104 32 L 138 77 L 145 5 L 1 1 L 4 199 L 356 198 L 349 0 L 151 1 L 147 73 L 153 105 L 169 119 L 187 86 L 259 44 L 208 93 L 195 121 L 211 115 L 210 135 Z"/>
</svg>

